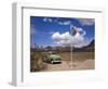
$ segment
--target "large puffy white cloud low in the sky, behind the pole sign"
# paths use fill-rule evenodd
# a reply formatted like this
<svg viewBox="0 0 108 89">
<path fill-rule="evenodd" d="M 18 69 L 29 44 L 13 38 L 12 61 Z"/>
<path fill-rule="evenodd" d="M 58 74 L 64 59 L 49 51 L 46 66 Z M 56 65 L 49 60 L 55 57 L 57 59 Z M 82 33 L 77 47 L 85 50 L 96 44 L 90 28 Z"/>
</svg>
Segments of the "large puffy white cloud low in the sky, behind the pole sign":
<svg viewBox="0 0 108 89">
<path fill-rule="evenodd" d="M 84 35 L 85 31 L 82 28 L 77 28 L 77 34 L 72 36 L 69 31 L 66 33 L 53 33 L 52 39 L 54 43 L 58 46 L 73 46 L 73 47 L 79 47 L 83 43 L 84 41 Z M 83 31 L 83 34 L 80 34 L 80 31 Z"/>
</svg>

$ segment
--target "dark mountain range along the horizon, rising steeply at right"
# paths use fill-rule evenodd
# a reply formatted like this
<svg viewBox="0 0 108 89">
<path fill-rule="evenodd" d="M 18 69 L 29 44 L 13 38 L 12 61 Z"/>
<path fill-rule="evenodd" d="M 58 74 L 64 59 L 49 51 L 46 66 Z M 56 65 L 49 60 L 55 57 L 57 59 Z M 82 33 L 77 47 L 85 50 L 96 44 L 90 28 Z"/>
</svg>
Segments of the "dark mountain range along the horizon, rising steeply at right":
<svg viewBox="0 0 108 89">
<path fill-rule="evenodd" d="M 71 47 L 51 47 L 48 46 L 45 48 L 43 47 L 37 47 L 37 48 L 31 48 L 31 51 L 57 51 L 57 52 L 70 52 L 71 50 L 73 52 L 94 52 L 95 51 L 95 40 L 93 39 L 87 46 L 84 46 L 82 48 L 72 48 Z"/>
</svg>

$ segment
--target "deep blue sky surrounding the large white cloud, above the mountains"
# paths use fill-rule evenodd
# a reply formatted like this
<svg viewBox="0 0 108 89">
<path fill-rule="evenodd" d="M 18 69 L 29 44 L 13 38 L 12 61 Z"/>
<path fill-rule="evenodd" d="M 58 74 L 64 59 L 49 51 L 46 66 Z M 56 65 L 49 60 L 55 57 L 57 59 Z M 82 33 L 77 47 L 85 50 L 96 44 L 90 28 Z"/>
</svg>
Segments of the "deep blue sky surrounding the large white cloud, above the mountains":
<svg viewBox="0 0 108 89">
<path fill-rule="evenodd" d="M 93 18 L 30 16 L 30 44 L 54 46 L 52 34 L 71 33 L 70 24 L 86 33 L 83 46 L 94 39 L 95 21 Z"/>
</svg>

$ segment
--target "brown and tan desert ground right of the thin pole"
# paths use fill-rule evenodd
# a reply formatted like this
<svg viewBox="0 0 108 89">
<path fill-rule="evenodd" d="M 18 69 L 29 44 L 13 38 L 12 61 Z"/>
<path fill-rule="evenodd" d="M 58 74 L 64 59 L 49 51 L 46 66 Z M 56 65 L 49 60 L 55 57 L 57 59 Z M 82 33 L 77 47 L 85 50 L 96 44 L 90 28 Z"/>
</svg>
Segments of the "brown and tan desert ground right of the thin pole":
<svg viewBox="0 0 108 89">
<path fill-rule="evenodd" d="M 94 69 L 95 68 L 94 52 L 73 52 L 72 69 Z"/>
</svg>

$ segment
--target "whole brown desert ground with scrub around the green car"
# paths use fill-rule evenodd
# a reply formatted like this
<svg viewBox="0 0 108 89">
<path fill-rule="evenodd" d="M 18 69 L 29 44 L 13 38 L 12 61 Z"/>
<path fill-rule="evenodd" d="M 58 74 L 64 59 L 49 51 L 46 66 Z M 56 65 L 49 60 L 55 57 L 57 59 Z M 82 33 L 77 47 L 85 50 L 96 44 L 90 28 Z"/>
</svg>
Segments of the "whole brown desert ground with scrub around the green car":
<svg viewBox="0 0 108 89">
<path fill-rule="evenodd" d="M 30 60 L 30 72 L 52 72 L 52 71 L 77 71 L 94 69 L 94 52 L 59 52 L 60 64 L 50 64 L 42 61 L 44 52 L 32 53 Z M 72 56 L 72 58 L 71 58 Z"/>
</svg>

